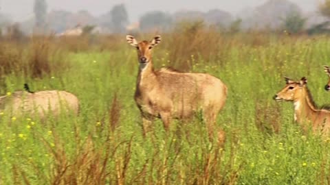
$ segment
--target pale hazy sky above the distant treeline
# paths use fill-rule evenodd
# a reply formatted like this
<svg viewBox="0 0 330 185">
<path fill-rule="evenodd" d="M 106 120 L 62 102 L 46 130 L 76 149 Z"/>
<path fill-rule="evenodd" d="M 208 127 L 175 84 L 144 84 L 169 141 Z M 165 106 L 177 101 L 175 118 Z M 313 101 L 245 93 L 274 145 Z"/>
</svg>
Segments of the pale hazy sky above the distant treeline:
<svg viewBox="0 0 330 185">
<path fill-rule="evenodd" d="M 47 0 L 48 10 L 88 10 L 96 16 L 108 12 L 118 3 L 124 3 L 130 21 L 137 21 L 145 12 L 162 10 L 173 13 L 177 10 L 207 10 L 219 8 L 236 14 L 243 8 L 261 5 L 266 0 Z M 291 0 L 305 11 L 314 11 L 320 0 Z M 34 0 L 0 0 L 0 12 L 10 14 L 14 21 L 33 16 Z"/>
</svg>

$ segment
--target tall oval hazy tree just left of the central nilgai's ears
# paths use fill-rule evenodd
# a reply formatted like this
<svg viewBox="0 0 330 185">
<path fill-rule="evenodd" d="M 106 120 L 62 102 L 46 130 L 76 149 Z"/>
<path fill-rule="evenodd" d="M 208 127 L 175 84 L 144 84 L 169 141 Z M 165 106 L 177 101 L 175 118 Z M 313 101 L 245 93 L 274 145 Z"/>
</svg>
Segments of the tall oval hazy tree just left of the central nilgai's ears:
<svg viewBox="0 0 330 185">
<path fill-rule="evenodd" d="M 113 25 L 113 32 L 122 33 L 126 30 L 126 25 L 129 23 L 129 15 L 127 14 L 124 4 L 113 6 L 111 12 L 111 22 Z"/>
</svg>

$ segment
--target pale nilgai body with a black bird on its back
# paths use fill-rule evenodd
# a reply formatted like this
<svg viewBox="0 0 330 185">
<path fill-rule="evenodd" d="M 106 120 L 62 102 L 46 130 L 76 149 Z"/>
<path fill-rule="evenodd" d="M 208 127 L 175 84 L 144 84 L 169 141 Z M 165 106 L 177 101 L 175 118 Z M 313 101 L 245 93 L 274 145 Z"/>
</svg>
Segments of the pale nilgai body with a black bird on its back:
<svg viewBox="0 0 330 185">
<path fill-rule="evenodd" d="M 63 90 L 43 90 L 32 92 L 28 84 L 24 84 L 25 91 L 16 91 L 12 95 L 0 97 L 0 111 L 10 110 L 13 115 L 38 114 L 44 119 L 49 112 L 58 116 L 61 110 L 78 114 L 79 100 L 72 93 Z"/>
</svg>

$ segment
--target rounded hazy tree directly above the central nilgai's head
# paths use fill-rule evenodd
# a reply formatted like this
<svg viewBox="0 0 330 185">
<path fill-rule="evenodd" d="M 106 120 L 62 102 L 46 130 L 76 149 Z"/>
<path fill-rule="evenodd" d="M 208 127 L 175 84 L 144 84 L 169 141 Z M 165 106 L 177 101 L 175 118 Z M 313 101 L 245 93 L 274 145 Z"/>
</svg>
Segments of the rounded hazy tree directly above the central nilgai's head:
<svg viewBox="0 0 330 185">
<path fill-rule="evenodd" d="M 151 29 L 169 29 L 173 22 L 172 16 L 164 12 L 155 11 L 147 12 L 140 18 L 140 28 L 143 31 L 150 31 Z"/>
</svg>

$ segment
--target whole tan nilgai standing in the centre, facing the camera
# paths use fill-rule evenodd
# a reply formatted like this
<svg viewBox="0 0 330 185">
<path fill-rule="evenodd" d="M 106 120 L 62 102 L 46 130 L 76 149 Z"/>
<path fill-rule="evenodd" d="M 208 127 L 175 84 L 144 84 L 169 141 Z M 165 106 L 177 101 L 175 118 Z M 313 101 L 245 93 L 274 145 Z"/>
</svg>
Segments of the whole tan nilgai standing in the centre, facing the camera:
<svg viewBox="0 0 330 185">
<path fill-rule="evenodd" d="M 160 36 L 150 42 L 137 42 L 133 36 L 126 36 L 126 40 L 137 49 L 140 63 L 134 99 L 142 114 L 144 134 L 155 117 L 162 119 L 167 131 L 171 119 L 188 119 L 201 110 L 212 136 L 217 114 L 225 105 L 225 84 L 204 73 L 179 73 L 166 68 L 155 71 L 151 51 L 161 41 Z"/>
</svg>

